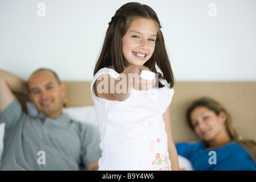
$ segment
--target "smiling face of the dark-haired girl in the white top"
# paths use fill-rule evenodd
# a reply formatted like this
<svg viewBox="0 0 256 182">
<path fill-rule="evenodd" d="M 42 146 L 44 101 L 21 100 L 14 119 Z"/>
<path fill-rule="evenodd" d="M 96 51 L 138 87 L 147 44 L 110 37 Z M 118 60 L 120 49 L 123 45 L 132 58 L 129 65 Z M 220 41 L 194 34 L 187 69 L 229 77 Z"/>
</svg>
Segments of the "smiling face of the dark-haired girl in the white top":
<svg viewBox="0 0 256 182">
<path fill-rule="evenodd" d="M 123 55 L 129 65 L 143 65 L 153 55 L 157 35 L 154 20 L 136 18 L 122 38 Z"/>
</svg>

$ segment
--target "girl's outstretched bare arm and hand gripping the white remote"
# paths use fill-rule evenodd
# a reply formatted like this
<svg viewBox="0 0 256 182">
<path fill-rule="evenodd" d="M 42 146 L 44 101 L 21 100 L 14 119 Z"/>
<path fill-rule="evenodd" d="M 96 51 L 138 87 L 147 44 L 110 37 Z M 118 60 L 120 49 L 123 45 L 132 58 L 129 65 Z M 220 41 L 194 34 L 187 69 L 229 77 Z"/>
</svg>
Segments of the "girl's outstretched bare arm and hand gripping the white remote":
<svg viewBox="0 0 256 182">
<path fill-rule="evenodd" d="M 111 101 L 124 101 L 129 98 L 132 88 L 147 90 L 155 86 L 155 80 L 147 81 L 140 78 L 140 72 L 149 68 L 132 65 L 124 69 L 116 79 L 110 75 L 101 75 L 94 83 L 94 90 L 97 97 Z"/>
</svg>

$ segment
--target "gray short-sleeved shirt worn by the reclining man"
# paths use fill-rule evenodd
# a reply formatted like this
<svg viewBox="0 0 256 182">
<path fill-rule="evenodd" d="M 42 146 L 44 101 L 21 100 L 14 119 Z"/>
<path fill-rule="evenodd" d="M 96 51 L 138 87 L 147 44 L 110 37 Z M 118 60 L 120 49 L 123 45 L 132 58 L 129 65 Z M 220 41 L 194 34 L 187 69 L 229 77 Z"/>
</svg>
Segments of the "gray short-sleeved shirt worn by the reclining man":
<svg viewBox="0 0 256 182">
<path fill-rule="evenodd" d="M 0 113 L 5 122 L 1 170 L 79 170 L 99 160 L 100 136 L 95 126 L 67 114 L 51 119 L 30 117 L 17 98 Z"/>
</svg>

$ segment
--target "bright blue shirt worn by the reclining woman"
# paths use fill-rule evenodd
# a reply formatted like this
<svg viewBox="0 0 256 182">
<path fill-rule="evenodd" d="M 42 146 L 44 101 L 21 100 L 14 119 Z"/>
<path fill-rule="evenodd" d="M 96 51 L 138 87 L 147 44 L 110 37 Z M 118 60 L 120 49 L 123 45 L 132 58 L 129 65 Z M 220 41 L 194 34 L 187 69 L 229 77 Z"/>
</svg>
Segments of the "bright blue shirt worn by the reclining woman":
<svg viewBox="0 0 256 182">
<path fill-rule="evenodd" d="M 253 159 L 237 142 L 230 142 L 213 150 L 205 148 L 202 142 L 176 143 L 178 155 L 189 159 L 195 171 L 256 170 Z"/>
</svg>

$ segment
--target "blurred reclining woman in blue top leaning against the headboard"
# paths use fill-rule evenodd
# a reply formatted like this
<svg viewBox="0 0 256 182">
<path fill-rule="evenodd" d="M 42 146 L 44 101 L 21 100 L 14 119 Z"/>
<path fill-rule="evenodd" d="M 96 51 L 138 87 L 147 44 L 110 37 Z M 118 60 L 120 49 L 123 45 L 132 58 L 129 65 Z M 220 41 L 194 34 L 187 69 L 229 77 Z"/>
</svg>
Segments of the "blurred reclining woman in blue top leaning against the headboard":
<svg viewBox="0 0 256 182">
<path fill-rule="evenodd" d="M 240 140 L 227 110 L 212 98 L 200 98 L 186 113 L 200 142 L 176 143 L 178 155 L 194 170 L 256 170 L 256 143 Z"/>
</svg>

